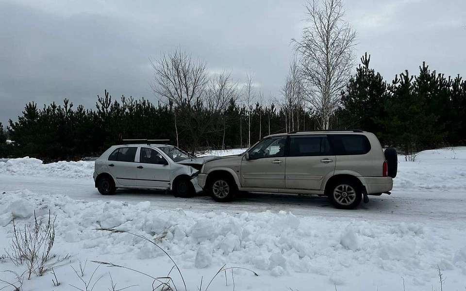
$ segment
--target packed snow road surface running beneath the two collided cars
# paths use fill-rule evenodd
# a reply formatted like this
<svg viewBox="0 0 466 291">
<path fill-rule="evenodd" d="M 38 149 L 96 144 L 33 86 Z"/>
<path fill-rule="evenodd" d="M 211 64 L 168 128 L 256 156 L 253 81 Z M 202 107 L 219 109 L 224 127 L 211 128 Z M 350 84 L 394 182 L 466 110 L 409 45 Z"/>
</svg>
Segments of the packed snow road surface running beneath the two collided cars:
<svg viewBox="0 0 466 291">
<path fill-rule="evenodd" d="M 86 201 L 149 201 L 156 209 L 177 208 L 193 211 L 220 210 L 226 213 L 239 211 L 262 212 L 291 211 L 299 216 L 338 216 L 390 221 L 466 221 L 466 191 L 435 191 L 427 189 L 394 189 L 392 195 L 369 196 L 358 210 L 337 210 L 324 197 L 284 194 L 244 194 L 230 203 L 218 203 L 209 196 L 177 198 L 163 191 L 119 190 L 112 196 L 102 196 L 92 179 L 25 177 L 0 174 L 0 191 L 30 190 L 37 194 L 64 194 Z"/>
</svg>

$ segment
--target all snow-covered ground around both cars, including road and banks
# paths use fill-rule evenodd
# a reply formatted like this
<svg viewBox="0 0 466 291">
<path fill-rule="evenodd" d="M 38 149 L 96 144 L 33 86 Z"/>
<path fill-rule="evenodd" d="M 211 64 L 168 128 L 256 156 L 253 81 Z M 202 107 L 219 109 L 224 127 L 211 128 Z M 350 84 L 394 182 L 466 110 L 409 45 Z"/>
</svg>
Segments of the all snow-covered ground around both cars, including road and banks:
<svg viewBox="0 0 466 291">
<path fill-rule="evenodd" d="M 247 194 L 228 204 L 152 191 L 101 196 L 92 172 L 93 162 L 0 162 L 0 258 L 9 247 L 12 218 L 29 223 L 33 210 L 38 217 L 49 210 L 57 216 L 54 252 L 71 255 L 70 263 L 55 270 L 61 286 L 53 287 L 46 274 L 25 280 L 23 290 L 83 288 L 70 265 L 77 268 L 86 259 L 154 276 L 172 267 L 154 245 L 97 227 L 158 242 L 178 263 L 188 290 L 199 290 L 201 277 L 204 290 L 223 264 L 259 274 L 236 269 L 235 290 L 403 290 L 403 278 L 405 290 L 440 290 L 437 265 L 446 277 L 443 290 L 466 288 L 466 147 L 424 151 L 416 162 L 399 156 L 392 195 L 370 197 L 351 211 L 312 196 Z M 84 280 L 96 266 L 87 263 Z M 0 259 L 3 270 L 22 269 Z M 104 266 L 93 278 L 104 275 L 94 290 L 110 288 L 109 272 L 117 288 L 137 284 L 128 290 L 150 290 L 147 277 Z M 0 273 L 0 279 L 10 275 Z M 226 277 L 220 274 L 209 290 L 233 290 L 231 273 Z"/>
</svg>

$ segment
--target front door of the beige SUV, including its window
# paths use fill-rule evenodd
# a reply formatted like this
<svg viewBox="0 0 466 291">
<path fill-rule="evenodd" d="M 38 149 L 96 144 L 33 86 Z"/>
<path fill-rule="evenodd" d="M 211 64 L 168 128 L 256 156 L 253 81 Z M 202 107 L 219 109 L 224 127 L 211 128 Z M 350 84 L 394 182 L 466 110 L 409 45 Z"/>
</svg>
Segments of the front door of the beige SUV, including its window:
<svg viewBox="0 0 466 291">
<path fill-rule="evenodd" d="M 246 188 L 278 189 L 285 186 L 286 136 L 267 138 L 248 151 L 241 161 L 241 185 Z M 270 190 L 273 191 L 273 190 Z"/>
</svg>

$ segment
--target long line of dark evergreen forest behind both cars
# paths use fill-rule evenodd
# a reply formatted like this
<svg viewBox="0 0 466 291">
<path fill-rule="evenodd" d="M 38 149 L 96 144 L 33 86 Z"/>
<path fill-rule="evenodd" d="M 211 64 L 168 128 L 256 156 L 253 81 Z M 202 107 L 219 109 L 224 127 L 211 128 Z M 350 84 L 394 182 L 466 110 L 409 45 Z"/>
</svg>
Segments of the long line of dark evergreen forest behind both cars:
<svg viewBox="0 0 466 291">
<path fill-rule="evenodd" d="M 461 76 L 445 77 L 423 63 L 418 75 L 405 71 L 387 82 L 369 62 L 366 53 L 341 91 L 340 105 L 329 118 L 331 129 L 367 130 L 383 146 L 406 154 L 466 144 L 466 81 Z M 196 152 L 248 147 L 268 134 L 319 129 L 321 116 L 296 94 L 294 69 L 292 61 L 281 99 L 269 102 L 248 86 L 250 75 L 250 82 L 238 88 L 229 74 L 206 77 L 202 93 L 191 94 L 189 101 L 183 95 L 156 103 L 124 96 L 115 100 L 105 91 L 95 110 L 75 107 L 68 99 L 42 108 L 31 102 L 17 121 L 9 121 L 7 135 L 14 144 L 5 144 L 0 124 L 0 156 L 77 160 L 99 155 L 126 138 L 170 139 Z"/>
</svg>

